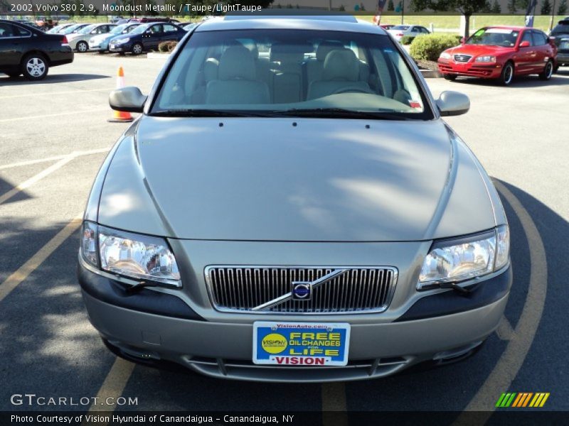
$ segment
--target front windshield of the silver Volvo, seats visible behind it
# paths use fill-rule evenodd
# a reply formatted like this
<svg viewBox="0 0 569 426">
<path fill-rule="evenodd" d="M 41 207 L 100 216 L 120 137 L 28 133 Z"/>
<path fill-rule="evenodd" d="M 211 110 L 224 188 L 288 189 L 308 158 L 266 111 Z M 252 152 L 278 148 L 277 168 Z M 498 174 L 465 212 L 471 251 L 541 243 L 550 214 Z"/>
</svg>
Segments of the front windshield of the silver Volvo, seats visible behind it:
<svg viewBox="0 0 569 426">
<path fill-rule="evenodd" d="M 349 117 L 361 112 L 366 118 L 383 113 L 383 118 L 430 119 L 425 105 L 418 81 L 387 35 L 203 31 L 184 45 L 151 114 Z"/>
</svg>

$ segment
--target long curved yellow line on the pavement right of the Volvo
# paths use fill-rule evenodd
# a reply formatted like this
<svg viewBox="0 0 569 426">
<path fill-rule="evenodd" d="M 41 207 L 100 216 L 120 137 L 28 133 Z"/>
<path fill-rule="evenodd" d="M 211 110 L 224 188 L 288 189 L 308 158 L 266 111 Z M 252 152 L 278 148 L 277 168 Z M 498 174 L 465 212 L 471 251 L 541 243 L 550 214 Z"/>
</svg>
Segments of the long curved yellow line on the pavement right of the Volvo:
<svg viewBox="0 0 569 426">
<path fill-rule="evenodd" d="M 516 378 L 523 360 L 526 359 L 533 339 L 536 337 L 547 293 L 547 258 L 543 240 L 536 224 L 523 204 L 501 182 L 494 181 L 496 189 L 510 204 L 521 222 L 523 232 L 529 242 L 529 288 L 526 302 L 515 329 L 514 337 L 508 342 L 504 353 L 494 366 L 486 381 L 478 389 L 465 411 L 478 411 L 477 423 L 484 424 L 496 409 L 496 395 L 509 389 Z M 472 417 L 466 413 L 459 415 L 454 425 L 470 425 Z"/>
</svg>

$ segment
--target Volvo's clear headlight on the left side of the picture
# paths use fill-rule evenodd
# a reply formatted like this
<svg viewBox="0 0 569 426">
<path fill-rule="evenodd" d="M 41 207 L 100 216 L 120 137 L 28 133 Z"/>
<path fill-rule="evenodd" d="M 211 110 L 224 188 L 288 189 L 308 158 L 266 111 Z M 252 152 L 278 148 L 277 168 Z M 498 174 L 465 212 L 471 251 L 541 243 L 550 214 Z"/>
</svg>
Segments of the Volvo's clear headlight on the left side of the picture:
<svg viewBox="0 0 569 426">
<path fill-rule="evenodd" d="M 166 240 L 83 223 L 83 260 L 100 271 L 181 287 L 174 253 Z"/>
</svg>

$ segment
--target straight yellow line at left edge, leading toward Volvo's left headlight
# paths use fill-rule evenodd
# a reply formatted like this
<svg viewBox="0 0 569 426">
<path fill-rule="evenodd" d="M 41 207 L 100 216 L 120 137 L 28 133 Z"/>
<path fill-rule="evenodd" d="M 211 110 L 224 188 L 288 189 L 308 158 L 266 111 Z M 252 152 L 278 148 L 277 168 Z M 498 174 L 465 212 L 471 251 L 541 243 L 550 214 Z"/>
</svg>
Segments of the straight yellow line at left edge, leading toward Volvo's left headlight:
<svg viewBox="0 0 569 426">
<path fill-rule="evenodd" d="M 45 246 L 43 246 L 39 251 L 29 258 L 26 263 L 24 263 L 16 272 L 10 275 L 4 283 L 0 284 L 0 302 L 4 300 L 4 297 L 9 295 L 14 288 L 18 286 L 23 280 L 26 280 L 28 276 L 38 268 L 38 266 L 43 263 L 43 261 L 48 258 L 48 256 L 55 251 L 70 235 L 72 235 L 83 221 L 83 212 L 77 215 L 75 219 L 69 222 L 65 227 L 58 232 L 52 239 L 50 239 Z"/>
</svg>

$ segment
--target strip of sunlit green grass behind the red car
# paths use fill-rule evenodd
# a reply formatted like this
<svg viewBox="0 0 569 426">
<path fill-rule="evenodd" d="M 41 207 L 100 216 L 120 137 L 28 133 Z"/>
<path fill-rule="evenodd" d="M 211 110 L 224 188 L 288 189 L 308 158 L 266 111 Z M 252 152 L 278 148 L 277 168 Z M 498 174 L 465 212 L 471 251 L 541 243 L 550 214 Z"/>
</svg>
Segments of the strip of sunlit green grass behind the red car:
<svg viewBox="0 0 569 426">
<path fill-rule="evenodd" d="M 564 16 L 555 16 L 553 18 L 553 26 L 555 26 Z M 372 21 L 373 16 L 358 16 L 358 18 Z M 533 27 L 543 31 L 549 31 L 549 21 L 551 16 L 536 16 L 533 20 Z M 478 28 L 491 25 L 513 25 L 523 26 L 525 16 L 523 15 L 478 15 L 470 18 L 470 29 L 476 31 Z M 381 17 L 381 23 L 401 23 L 400 15 L 384 15 Z M 460 16 L 454 15 L 411 15 L 405 16 L 403 23 L 421 25 L 429 28 L 430 23 L 437 28 L 453 29 L 460 28 Z"/>
</svg>

